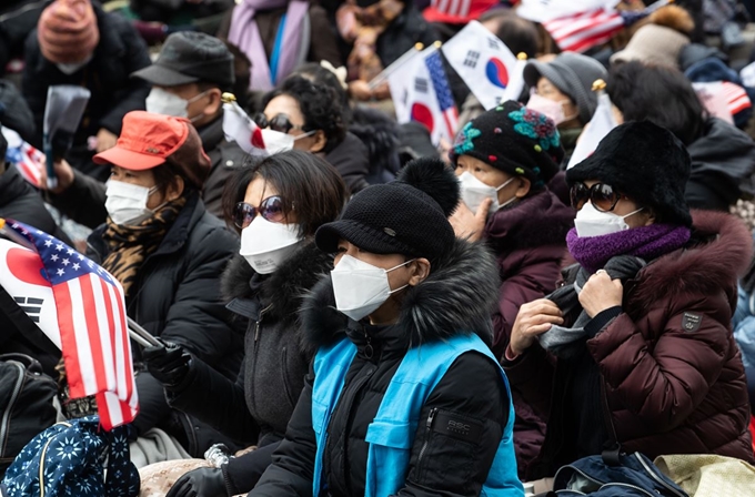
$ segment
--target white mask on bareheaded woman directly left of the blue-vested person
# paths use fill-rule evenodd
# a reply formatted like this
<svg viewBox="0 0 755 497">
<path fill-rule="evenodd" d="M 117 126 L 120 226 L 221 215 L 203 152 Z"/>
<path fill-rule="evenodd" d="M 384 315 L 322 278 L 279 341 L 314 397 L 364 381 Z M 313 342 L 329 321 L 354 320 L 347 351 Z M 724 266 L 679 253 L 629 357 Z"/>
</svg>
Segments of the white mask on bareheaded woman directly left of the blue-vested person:
<svg viewBox="0 0 755 497">
<path fill-rule="evenodd" d="M 296 250 L 301 240 L 298 224 L 273 223 L 258 215 L 241 230 L 239 253 L 256 273 L 270 274 Z"/>
</svg>

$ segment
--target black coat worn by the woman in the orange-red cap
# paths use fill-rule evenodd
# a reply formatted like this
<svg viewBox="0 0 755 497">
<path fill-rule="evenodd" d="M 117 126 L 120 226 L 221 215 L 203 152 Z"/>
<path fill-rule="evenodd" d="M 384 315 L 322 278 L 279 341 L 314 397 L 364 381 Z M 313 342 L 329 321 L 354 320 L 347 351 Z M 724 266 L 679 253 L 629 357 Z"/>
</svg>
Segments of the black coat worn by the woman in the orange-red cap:
<svg viewBox="0 0 755 497">
<path fill-rule="evenodd" d="M 98 263 L 108 256 L 103 232 L 104 225 L 88 240 L 88 255 Z M 149 333 L 181 345 L 226 378 L 239 373 L 243 333 L 223 306 L 220 274 L 238 251 L 238 237 L 191 192 L 158 250 L 142 264 L 125 303 L 128 315 Z M 134 347 L 134 361 L 139 357 Z M 161 426 L 194 456 L 214 443 L 217 434 L 197 432 L 185 416 L 178 416 L 180 426 L 173 426 L 177 416 L 165 402 L 163 386 L 148 372 L 137 376 L 137 387 L 140 413 L 134 427 L 140 434 Z"/>
</svg>

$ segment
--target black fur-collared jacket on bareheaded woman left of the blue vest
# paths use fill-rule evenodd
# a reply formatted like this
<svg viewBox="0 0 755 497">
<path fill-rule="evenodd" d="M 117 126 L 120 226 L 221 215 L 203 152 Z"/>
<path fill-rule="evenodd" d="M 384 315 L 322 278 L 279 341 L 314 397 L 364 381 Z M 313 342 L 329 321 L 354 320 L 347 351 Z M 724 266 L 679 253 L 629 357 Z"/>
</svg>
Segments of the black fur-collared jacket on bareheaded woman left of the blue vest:
<svg viewBox="0 0 755 497">
<path fill-rule="evenodd" d="M 170 405 L 233 438 L 260 447 L 280 442 L 312 358 L 301 347 L 298 311 L 303 295 L 332 267 L 333 257 L 311 242 L 269 276 L 256 274 L 242 256 L 234 257 L 222 285 L 231 300 L 228 307 L 249 323 L 239 378 L 234 384 L 195 361 L 187 381 L 168 390 Z M 251 490 L 270 464 L 271 452 L 264 453 L 263 465 L 261 454 L 250 453 L 224 467 L 234 494 Z"/>
</svg>

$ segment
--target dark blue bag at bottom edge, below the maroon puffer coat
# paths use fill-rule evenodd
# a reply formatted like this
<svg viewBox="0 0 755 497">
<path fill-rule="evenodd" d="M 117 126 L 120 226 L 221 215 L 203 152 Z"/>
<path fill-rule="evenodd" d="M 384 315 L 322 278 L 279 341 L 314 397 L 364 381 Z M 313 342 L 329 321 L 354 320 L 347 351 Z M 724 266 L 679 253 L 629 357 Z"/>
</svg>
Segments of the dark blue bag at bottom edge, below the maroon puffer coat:
<svg viewBox="0 0 755 497">
<path fill-rule="evenodd" d="M 588 456 L 562 466 L 553 489 L 558 496 L 689 497 L 640 453 Z"/>
</svg>

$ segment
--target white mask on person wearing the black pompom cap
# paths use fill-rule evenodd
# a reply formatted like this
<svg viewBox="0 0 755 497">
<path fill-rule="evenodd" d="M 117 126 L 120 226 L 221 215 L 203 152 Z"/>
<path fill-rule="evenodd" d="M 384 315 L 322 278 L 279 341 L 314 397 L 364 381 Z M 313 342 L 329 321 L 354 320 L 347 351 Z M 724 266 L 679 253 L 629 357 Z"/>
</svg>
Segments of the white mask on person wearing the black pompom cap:
<svg viewBox="0 0 755 497">
<path fill-rule="evenodd" d="M 348 254 L 341 256 L 335 268 L 331 271 L 335 308 L 354 321 L 369 316 L 383 305 L 392 293 L 409 286 L 406 284 L 392 291 L 387 273 L 412 261 L 414 260 L 383 270 Z"/>
</svg>

